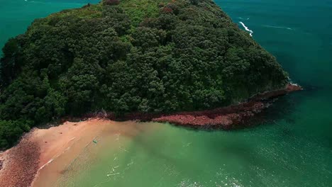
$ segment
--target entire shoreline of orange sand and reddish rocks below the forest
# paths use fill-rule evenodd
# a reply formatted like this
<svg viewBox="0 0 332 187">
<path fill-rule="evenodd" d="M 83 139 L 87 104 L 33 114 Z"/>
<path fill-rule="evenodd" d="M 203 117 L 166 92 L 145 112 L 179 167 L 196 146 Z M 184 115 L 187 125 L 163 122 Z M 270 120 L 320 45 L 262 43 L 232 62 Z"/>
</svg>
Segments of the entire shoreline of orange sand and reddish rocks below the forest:
<svg viewBox="0 0 332 187">
<path fill-rule="evenodd" d="M 289 84 L 286 89 L 258 94 L 250 98 L 250 101 L 234 106 L 170 115 L 133 113 L 126 115 L 121 120 L 173 123 L 190 128 L 207 127 L 229 130 L 242 125 L 255 114 L 270 106 L 272 98 L 299 90 L 301 90 L 301 86 Z M 55 182 L 57 176 L 60 176 L 72 159 L 104 130 L 105 125 L 114 123 L 113 128 L 118 127 L 114 121 L 117 119 L 112 113 L 87 116 L 90 118 L 84 118 L 83 121 L 77 123 L 66 121 L 62 125 L 48 129 L 33 128 L 31 132 L 21 137 L 18 145 L 5 152 L 0 152 L 0 186 L 45 186 L 45 181 L 40 180 L 45 178 L 48 179 L 48 182 Z M 45 167 L 51 162 L 55 162 L 62 154 L 66 154 L 66 156 L 61 157 L 60 166 L 57 165 L 57 168 Z M 40 172 L 47 169 L 50 171 Z M 40 174 L 42 175 L 40 176 Z"/>
</svg>

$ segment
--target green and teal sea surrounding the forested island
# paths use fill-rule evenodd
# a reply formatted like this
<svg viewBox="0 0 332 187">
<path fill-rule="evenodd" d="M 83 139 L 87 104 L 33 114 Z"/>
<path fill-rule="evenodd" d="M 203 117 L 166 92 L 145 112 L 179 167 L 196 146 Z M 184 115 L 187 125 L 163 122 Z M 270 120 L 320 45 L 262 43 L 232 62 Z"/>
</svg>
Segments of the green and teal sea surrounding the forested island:
<svg viewBox="0 0 332 187">
<path fill-rule="evenodd" d="M 0 0 L 0 46 L 34 18 L 87 2 Z M 157 130 L 101 136 L 105 149 L 87 147 L 55 186 L 332 186 L 332 0 L 216 3 L 305 90 L 279 98 L 251 128 L 138 123 Z M 117 149 L 107 149 L 112 140 Z"/>
</svg>

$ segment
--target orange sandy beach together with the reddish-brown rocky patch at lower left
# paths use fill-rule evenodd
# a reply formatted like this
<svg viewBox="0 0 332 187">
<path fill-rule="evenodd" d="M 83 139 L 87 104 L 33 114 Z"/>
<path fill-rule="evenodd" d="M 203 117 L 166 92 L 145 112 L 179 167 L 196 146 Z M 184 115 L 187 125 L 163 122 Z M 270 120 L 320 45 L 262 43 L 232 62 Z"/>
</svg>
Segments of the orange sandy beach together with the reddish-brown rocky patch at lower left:
<svg viewBox="0 0 332 187">
<path fill-rule="evenodd" d="M 49 129 L 34 128 L 16 147 L 0 154 L 3 160 L 0 186 L 45 186 L 45 181 L 40 179 L 48 179 L 48 183 L 55 181 L 72 159 L 110 123 L 110 120 L 92 119 L 66 122 Z M 59 164 L 50 164 L 52 162 Z"/>
</svg>

